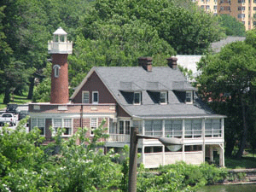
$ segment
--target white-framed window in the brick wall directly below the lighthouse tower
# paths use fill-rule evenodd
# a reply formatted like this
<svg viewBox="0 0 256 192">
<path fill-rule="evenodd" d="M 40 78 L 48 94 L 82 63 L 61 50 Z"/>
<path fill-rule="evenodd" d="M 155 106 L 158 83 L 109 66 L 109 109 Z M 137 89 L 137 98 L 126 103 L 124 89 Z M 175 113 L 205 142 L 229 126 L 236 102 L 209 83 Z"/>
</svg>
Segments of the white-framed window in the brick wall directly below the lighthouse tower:
<svg viewBox="0 0 256 192">
<path fill-rule="evenodd" d="M 65 131 L 62 134 L 63 137 L 65 136 L 71 136 L 73 134 L 72 132 L 72 119 L 53 119 L 53 135 L 55 136 L 56 132 L 58 131 L 58 128 L 64 128 Z"/>
</svg>

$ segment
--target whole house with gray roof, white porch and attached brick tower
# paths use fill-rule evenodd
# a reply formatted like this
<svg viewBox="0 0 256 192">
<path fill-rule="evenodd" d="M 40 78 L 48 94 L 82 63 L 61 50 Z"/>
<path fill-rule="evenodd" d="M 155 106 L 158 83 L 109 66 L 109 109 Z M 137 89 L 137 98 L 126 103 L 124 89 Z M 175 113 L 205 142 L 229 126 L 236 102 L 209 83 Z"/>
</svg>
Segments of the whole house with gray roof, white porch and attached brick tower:
<svg viewBox="0 0 256 192">
<path fill-rule="evenodd" d="M 49 49 L 53 55 L 54 98 L 49 103 L 29 105 L 31 125 L 41 129 L 46 142 L 52 141 L 49 126 L 65 127 L 62 137 L 70 137 L 78 127 L 86 126 L 90 128 L 86 137 L 93 137 L 93 130 L 106 119 L 106 150 L 114 148 L 118 152 L 129 145 L 131 126 L 146 136 L 183 140 L 183 147 L 171 152 L 157 139 L 140 139 L 140 162 L 146 168 L 180 160 L 201 164 L 216 158 L 219 166 L 224 166 L 224 116 L 201 102 L 196 89 L 178 70 L 176 57 L 168 58 L 166 67 L 152 67 L 150 57 L 139 58 L 138 67 L 93 67 L 67 101 L 66 96 L 58 96 L 61 90 L 55 92 L 55 87 L 58 89 L 65 82 L 62 73 L 67 79 L 68 53 Z"/>
</svg>

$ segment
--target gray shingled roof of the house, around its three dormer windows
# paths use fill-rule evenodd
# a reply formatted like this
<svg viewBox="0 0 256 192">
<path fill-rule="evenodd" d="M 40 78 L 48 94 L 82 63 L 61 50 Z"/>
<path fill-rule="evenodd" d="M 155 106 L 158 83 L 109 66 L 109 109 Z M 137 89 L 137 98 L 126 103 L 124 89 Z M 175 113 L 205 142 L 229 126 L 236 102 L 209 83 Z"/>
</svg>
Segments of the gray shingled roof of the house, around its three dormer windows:
<svg viewBox="0 0 256 192">
<path fill-rule="evenodd" d="M 139 118 L 177 118 L 177 117 L 207 117 L 218 116 L 197 99 L 194 104 L 185 104 L 178 101 L 172 90 L 196 90 L 178 69 L 170 67 L 153 67 L 152 72 L 147 72 L 143 67 L 94 67 L 102 82 L 108 87 L 116 101 L 131 116 Z M 167 90 L 168 104 L 155 104 L 148 90 Z M 142 105 L 128 104 L 121 91 L 142 91 Z M 219 117 L 219 116 L 218 116 Z"/>
</svg>

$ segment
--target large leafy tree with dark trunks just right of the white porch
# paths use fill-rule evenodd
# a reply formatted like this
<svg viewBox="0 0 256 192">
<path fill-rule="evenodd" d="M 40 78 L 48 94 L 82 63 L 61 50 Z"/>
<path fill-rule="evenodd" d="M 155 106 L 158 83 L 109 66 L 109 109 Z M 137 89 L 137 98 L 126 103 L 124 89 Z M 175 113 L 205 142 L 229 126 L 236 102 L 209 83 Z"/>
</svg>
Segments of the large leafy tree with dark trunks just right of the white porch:
<svg viewBox="0 0 256 192">
<path fill-rule="evenodd" d="M 225 125 L 226 152 L 231 152 L 230 148 L 234 147 L 237 139 L 238 158 L 241 158 L 246 146 L 249 117 L 252 115 L 250 108 L 255 103 L 252 102 L 256 77 L 255 55 L 256 49 L 251 44 L 236 42 L 226 45 L 216 55 L 207 55 L 198 66 L 202 72 L 197 79 L 201 84 L 201 96 L 206 101 L 211 99 L 210 104 L 228 116 Z"/>
</svg>

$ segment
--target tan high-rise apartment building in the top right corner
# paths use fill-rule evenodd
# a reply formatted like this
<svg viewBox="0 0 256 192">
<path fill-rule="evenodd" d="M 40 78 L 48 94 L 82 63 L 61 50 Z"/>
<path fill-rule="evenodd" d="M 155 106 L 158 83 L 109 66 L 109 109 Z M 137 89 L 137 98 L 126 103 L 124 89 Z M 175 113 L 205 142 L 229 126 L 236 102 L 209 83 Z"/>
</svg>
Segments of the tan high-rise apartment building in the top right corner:
<svg viewBox="0 0 256 192">
<path fill-rule="evenodd" d="M 192 0 L 207 12 L 231 15 L 241 21 L 246 30 L 256 25 L 256 0 Z"/>
</svg>

